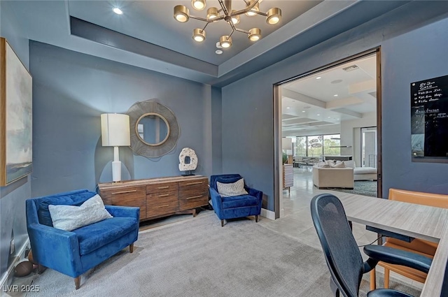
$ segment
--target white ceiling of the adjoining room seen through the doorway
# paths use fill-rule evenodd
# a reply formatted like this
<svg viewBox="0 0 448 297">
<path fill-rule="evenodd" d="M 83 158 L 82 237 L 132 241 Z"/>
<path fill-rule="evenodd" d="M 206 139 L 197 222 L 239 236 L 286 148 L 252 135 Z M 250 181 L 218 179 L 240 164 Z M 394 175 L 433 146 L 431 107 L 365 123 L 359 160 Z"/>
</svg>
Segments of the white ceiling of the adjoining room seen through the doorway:
<svg viewBox="0 0 448 297">
<path fill-rule="evenodd" d="M 283 132 L 339 129 L 342 121 L 376 113 L 376 65 L 373 54 L 283 85 Z"/>
</svg>

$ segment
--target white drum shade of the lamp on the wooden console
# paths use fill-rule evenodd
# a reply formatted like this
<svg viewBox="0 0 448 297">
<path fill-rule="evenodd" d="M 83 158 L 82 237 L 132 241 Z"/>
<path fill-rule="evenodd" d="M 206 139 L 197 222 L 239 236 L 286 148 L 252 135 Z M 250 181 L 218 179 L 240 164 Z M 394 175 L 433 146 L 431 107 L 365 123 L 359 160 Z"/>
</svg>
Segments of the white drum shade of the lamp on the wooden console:
<svg viewBox="0 0 448 297">
<path fill-rule="evenodd" d="M 104 147 L 130 146 L 129 115 L 104 113 L 101 115 L 101 138 Z"/>
</svg>

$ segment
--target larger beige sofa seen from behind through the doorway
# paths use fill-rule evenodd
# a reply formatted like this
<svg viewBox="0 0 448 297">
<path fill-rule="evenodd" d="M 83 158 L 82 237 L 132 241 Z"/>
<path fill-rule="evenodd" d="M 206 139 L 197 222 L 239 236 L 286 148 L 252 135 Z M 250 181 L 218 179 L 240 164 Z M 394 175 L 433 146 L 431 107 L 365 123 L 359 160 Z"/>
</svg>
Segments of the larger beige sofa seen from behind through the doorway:
<svg viewBox="0 0 448 297">
<path fill-rule="evenodd" d="M 313 166 L 313 184 L 318 188 L 348 188 L 353 189 L 353 168 L 323 168 Z"/>
</svg>

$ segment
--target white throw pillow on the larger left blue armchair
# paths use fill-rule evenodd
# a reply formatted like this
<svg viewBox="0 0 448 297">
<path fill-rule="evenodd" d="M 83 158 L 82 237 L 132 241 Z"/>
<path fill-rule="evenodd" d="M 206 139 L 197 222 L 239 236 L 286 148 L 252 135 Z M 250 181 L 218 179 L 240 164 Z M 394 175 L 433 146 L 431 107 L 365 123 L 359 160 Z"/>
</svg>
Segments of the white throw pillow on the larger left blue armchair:
<svg viewBox="0 0 448 297">
<path fill-rule="evenodd" d="M 80 206 L 50 204 L 48 210 L 50 210 L 53 226 L 65 231 L 72 231 L 112 217 L 104 208 L 102 198 L 98 194 L 84 201 Z"/>
</svg>

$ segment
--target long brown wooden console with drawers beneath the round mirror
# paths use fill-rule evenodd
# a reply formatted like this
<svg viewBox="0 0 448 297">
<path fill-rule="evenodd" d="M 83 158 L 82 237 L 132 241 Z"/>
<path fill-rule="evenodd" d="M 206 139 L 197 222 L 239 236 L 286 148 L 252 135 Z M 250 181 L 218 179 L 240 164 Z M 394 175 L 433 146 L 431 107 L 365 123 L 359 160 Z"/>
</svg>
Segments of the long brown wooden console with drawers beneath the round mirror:
<svg viewBox="0 0 448 297">
<path fill-rule="evenodd" d="M 140 221 L 191 213 L 209 203 L 209 180 L 201 175 L 98 184 L 106 205 L 137 206 Z"/>
</svg>

